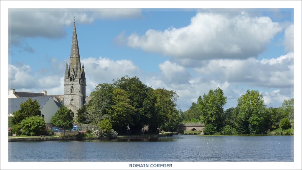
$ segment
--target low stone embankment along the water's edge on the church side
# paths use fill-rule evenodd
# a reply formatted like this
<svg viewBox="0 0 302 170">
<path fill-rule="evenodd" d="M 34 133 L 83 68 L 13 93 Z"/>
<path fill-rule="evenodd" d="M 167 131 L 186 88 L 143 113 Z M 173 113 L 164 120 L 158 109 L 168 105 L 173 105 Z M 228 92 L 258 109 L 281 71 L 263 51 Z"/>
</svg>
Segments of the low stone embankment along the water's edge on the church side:
<svg viewBox="0 0 302 170">
<path fill-rule="evenodd" d="M 177 135 L 178 133 L 173 133 L 173 135 Z M 158 134 L 158 135 L 131 135 L 131 136 L 117 136 L 117 139 L 146 139 L 146 138 L 158 138 L 162 136 L 169 136 L 168 134 Z M 86 138 L 76 138 L 76 137 L 16 137 L 16 138 L 8 138 L 8 142 L 21 142 L 21 141 L 52 141 L 52 140 L 89 140 L 94 139 L 92 137 Z M 100 140 L 106 140 L 107 137 L 100 138 Z"/>
</svg>

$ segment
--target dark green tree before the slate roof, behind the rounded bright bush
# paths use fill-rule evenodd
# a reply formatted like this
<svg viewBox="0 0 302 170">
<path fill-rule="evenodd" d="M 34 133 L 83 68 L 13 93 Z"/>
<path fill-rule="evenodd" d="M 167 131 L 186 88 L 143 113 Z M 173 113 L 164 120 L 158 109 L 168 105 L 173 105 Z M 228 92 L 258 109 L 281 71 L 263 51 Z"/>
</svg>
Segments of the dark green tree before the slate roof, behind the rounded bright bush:
<svg viewBox="0 0 302 170">
<path fill-rule="evenodd" d="M 37 100 L 32 101 L 28 98 L 25 102 L 21 103 L 20 109 L 15 111 L 13 117 L 11 118 L 12 123 L 18 124 L 23 119 L 32 116 L 41 116 L 40 104 Z"/>
</svg>

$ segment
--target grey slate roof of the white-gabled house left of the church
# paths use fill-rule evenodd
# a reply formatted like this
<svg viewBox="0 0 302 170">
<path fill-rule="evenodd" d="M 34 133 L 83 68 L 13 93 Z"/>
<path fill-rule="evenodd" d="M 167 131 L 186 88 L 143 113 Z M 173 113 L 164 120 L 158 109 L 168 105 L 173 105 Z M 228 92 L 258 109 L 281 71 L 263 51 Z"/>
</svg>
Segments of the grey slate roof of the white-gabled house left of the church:
<svg viewBox="0 0 302 170">
<path fill-rule="evenodd" d="M 19 110 L 21 103 L 26 102 L 28 98 L 31 98 L 31 100 L 37 100 L 40 105 L 40 109 L 42 109 L 45 103 L 47 103 L 47 101 L 51 98 L 51 96 L 8 98 L 8 113 L 14 113 L 15 111 Z M 55 103 L 57 104 L 58 102 Z M 59 107 L 58 104 L 57 106 Z"/>
</svg>

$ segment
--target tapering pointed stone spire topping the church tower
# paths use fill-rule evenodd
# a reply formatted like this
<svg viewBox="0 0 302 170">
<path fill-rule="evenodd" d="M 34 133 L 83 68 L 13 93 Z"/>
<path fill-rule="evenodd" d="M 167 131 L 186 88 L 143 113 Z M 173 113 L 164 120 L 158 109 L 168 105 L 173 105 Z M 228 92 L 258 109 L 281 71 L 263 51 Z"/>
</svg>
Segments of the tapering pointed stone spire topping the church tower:
<svg viewBox="0 0 302 170">
<path fill-rule="evenodd" d="M 70 60 L 69 60 L 69 74 L 73 68 L 76 73 L 75 76 L 77 77 L 78 69 L 81 68 L 80 63 L 81 61 L 80 61 L 78 38 L 76 34 L 76 24 L 75 22 L 73 22 L 72 43 L 71 43 Z"/>
</svg>

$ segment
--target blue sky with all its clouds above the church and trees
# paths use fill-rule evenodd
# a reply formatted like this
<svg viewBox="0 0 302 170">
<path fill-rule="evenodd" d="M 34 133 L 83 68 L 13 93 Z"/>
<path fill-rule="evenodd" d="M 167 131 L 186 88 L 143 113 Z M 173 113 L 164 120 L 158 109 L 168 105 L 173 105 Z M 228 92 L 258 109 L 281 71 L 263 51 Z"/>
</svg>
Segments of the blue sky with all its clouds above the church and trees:
<svg viewBox="0 0 302 170">
<path fill-rule="evenodd" d="M 224 108 L 248 89 L 267 107 L 293 97 L 293 9 L 9 9 L 9 89 L 63 94 L 76 24 L 86 95 L 138 76 L 174 90 L 183 111 L 221 88 Z"/>
</svg>

